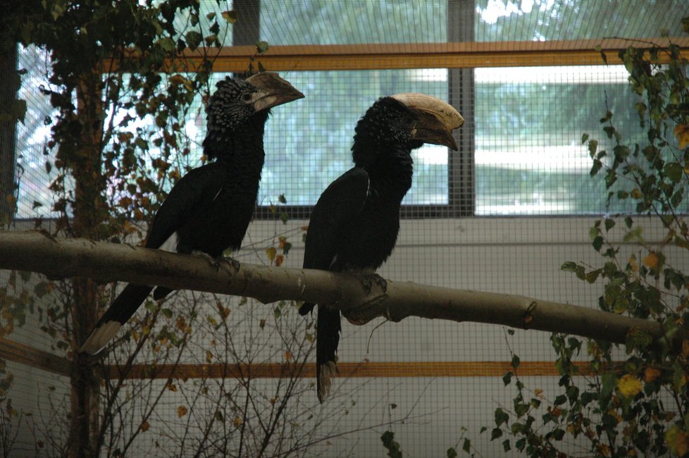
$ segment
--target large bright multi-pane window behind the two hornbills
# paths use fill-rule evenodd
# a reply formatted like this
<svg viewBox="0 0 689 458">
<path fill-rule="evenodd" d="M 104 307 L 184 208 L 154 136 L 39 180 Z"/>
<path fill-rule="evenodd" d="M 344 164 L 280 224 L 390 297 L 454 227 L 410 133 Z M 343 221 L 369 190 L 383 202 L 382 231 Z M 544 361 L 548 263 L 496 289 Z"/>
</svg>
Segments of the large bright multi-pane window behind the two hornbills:
<svg viewBox="0 0 689 458">
<path fill-rule="evenodd" d="M 325 187 L 352 166 L 354 127 L 368 106 L 378 97 L 396 92 L 425 92 L 450 101 L 467 122 L 457 132 L 459 151 L 435 146 L 415 151 L 414 185 L 404 199 L 404 216 L 631 211 L 607 208 L 607 190 L 602 181 L 590 180 L 591 161 L 581 144 L 584 132 L 605 140 L 599 119 L 607 109 L 614 111 L 618 130 L 636 130 L 638 119 L 630 111 L 633 99 L 623 68 L 569 65 L 557 56 L 538 57 L 535 66 L 507 66 L 509 53 L 503 58 L 504 67 L 482 67 L 474 62 L 468 66 L 455 60 L 459 68 L 448 70 L 434 60 L 433 51 L 448 42 L 511 42 L 517 44 L 512 49 L 534 49 L 535 55 L 540 51 L 545 55 L 550 49 L 566 54 L 578 40 L 609 36 L 607 22 L 600 19 L 606 14 L 616 15 L 615 24 L 621 30 L 615 33 L 627 37 L 658 37 L 661 32 L 680 35 L 678 15 L 673 13 L 681 8 L 678 1 L 645 1 L 636 6 L 629 2 L 583 3 L 237 3 L 249 19 L 241 27 L 237 23 L 228 29 L 234 43 L 249 43 L 258 37 L 273 47 L 327 45 L 364 54 L 368 49 L 397 53 L 395 59 L 392 54 L 375 54 L 377 60 L 367 63 L 365 69 L 295 70 L 292 67 L 296 62 L 287 62 L 280 68 L 267 66 L 268 70 L 279 70 L 306 94 L 306 99 L 274 109 L 273 118 L 268 121 L 259 206 L 275 203 L 283 194 L 292 206 L 290 216 L 307 217 L 309 206 Z M 204 14 L 213 13 L 215 7 L 204 5 Z M 324 29 L 325 24 L 328 27 Z M 223 42 L 230 42 L 227 33 Z M 551 44 L 535 47 L 535 42 Z M 423 61 L 427 65 L 414 61 L 414 65 L 399 68 L 399 55 L 403 54 L 400 49 L 415 56 L 428 51 Z M 49 158 L 43 156 L 43 144 L 49 133 L 43 120 L 50 107 L 37 92 L 46 72 L 45 58 L 36 50 L 20 51 L 20 68 L 27 68 L 28 73 L 19 97 L 29 105 L 27 121 L 20 126 L 17 142 L 21 151 L 17 171 L 20 218 L 51 216 L 51 197 L 46 192 L 50 182 L 46 167 L 50 165 Z M 333 56 L 333 60 L 337 58 Z M 224 76 L 216 73 L 214 78 Z M 187 122 L 192 137 L 189 166 L 200 164 L 204 124 L 205 113 L 199 100 L 198 109 L 191 111 Z M 266 214 L 266 209 L 258 212 L 259 217 Z"/>
</svg>

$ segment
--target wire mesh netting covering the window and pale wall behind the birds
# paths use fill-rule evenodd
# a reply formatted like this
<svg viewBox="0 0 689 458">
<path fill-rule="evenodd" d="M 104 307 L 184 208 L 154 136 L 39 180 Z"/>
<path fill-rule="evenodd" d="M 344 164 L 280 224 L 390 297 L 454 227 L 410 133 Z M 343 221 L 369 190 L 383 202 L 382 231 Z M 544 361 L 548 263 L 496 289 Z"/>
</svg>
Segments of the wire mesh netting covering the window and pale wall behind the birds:
<svg viewBox="0 0 689 458">
<path fill-rule="evenodd" d="M 685 13 L 681 1 L 235 3 L 260 18 L 254 32 L 261 39 L 297 47 L 401 43 L 433 49 L 433 44 L 446 44 L 458 29 L 464 33 L 468 28 L 475 42 L 611 35 L 643 39 L 680 35 L 678 20 Z M 448 23 L 453 11 L 460 5 L 466 9 L 466 4 L 473 22 Z M 204 14 L 213 8 L 208 6 Z M 185 24 L 185 18 L 180 21 Z M 223 37 L 227 46 L 230 35 Z M 280 69 L 306 97 L 274 109 L 268 120 L 259 208 L 233 257 L 274 265 L 271 249 L 282 247 L 282 266 L 302 266 L 309 211 L 325 187 L 352 166 L 357 120 L 378 97 L 423 92 L 457 106 L 466 124 L 457 134 L 459 151 L 430 145 L 414 151 L 414 185 L 403 202 L 395 252 L 380 275 L 393 282 L 597 308 L 601 285 L 581 282 L 560 267 L 564 261 L 599 263 L 590 246 L 592 221 L 633 210 L 609 206 L 602 178 L 590 176 L 591 158 L 582 143 L 588 133 L 600 140 L 601 148 L 612 146 L 601 131 L 606 111 L 615 113 L 616 128 L 630 142 L 643 135 L 634 106 L 638 97 L 628 89 L 625 68 L 561 65 L 557 58 L 547 66 L 437 68 L 432 56 L 426 68 L 392 68 L 396 65 L 381 58 L 369 70 Z M 45 90 L 50 59 L 41 49 L 20 47 L 16 68 L 22 70 L 16 98 L 26 101 L 27 112 L 17 124 L 15 146 L 1 153 L 3 158 L 13 155 L 14 175 L 11 182 L 0 182 L 0 191 L 16 202 L 11 230 L 33 228 L 36 219 L 49 227 L 56 216 L 56 197 L 49 189 L 56 176 L 55 158 L 46 148 L 55 115 Z M 210 86 L 225 76 L 214 73 Z M 462 84 L 456 84 L 458 80 Z M 108 118 L 117 116 L 123 114 L 106 113 Z M 205 117 L 199 96 L 180 128 L 191 147 L 188 156 L 179 158 L 182 170 L 202 163 Z M 141 120 L 135 128 L 156 130 L 153 120 Z M 151 147 L 150 154 L 155 159 L 159 151 Z M 270 211 L 271 206 L 278 211 Z M 280 221 L 282 211 L 286 222 Z M 662 228 L 649 221 L 647 240 L 662 237 Z M 677 266 L 685 266 L 688 261 L 680 254 L 672 248 L 667 253 L 677 255 Z M 48 317 L 64 313 L 69 304 L 68 282 L 1 271 L 0 287 L 3 339 L 68 356 L 70 349 L 56 345 L 54 329 L 46 326 Z M 106 302 L 120 287 L 106 287 Z M 156 313 L 158 321 L 151 324 Z M 13 326 L 8 328 L 8 323 Z M 312 363 L 313 316 L 302 318 L 291 303 L 266 305 L 199 292 L 176 292 L 158 309 L 149 301 L 120 331 L 125 342 L 108 354 L 107 363 L 126 364 L 144 335 L 166 329 L 174 332 L 133 362 L 151 371 L 185 364 L 188 372 L 179 378 L 164 373 L 151 378 L 151 372 L 126 380 L 109 374 L 104 400 L 121 410 L 104 456 L 116 454 L 125 443 L 130 456 L 187 456 L 201 450 L 209 438 L 213 446 L 202 455 L 255 456 L 265 448 L 275 456 L 378 456 L 384 453 L 380 435 L 386 430 L 395 431 L 408 456 L 443 456 L 464 438 L 471 438 L 483 456 L 497 456 L 504 454 L 503 445 L 483 428 L 490 431 L 495 409 L 509 408 L 514 398 L 502 380 L 514 354 L 526 368 L 526 385 L 540 390 L 545 399 L 559 392 L 547 333 L 510 334 L 500 326 L 421 318 L 400 323 L 379 319 L 364 326 L 343 321 L 341 377 L 335 378 L 332 397 L 321 406 L 313 373 L 291 379 L 236 372 L 252 364 Z M 184 338 L 175 341 L 180 335 Z M 365 372 L 367 366 L 373 373 Z M 210 373 L 209 368 L 221 372 Z M 586 381 L 579 378 L 576 383 Z M 4 439 L 17 444 L 16 456 L 53 456 L 66 438 L 68 374 L 8 361 L 0 366 L 0 395 L 5 393 L 17 415 L 0 426 L 7 434 Z M 276 411 L 290 414 L 278 420 Z M 262 440 L 272 421 L 280 435 L 266 445 Z M 138 435 L 130 444 L 131 429 Z M 568 453 L 586 456 L 590 450 L 581 440 L 571 442 Z"/>
</svg>

